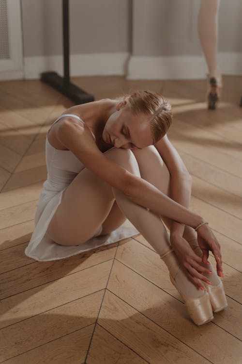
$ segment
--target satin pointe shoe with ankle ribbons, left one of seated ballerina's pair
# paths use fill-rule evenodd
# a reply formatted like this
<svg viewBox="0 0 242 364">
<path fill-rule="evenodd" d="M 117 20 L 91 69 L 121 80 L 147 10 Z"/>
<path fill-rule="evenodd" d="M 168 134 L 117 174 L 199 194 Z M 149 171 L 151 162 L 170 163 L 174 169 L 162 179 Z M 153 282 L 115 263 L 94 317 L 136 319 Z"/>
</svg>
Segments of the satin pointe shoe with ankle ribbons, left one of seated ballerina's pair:
<svg viewBox="0 0 242 364">
<path fill-rule="evenodd" d="M 176 287 L 182 300 L 185 303 L 188 314 L 196 325 L 203 325 L 213 319 L 212 306 L 210 303 L 209 294 L 206 291 L 201 291 L 201 295 L 197 298 L 189 297 L 181 292 L 175 278 L 181 269 L 181 265 L 173 250 L 167 251 L 165 254 L 159 254 L 160 258 L 166 264 L 169 270 L 171 283 Z"/>
</svg>

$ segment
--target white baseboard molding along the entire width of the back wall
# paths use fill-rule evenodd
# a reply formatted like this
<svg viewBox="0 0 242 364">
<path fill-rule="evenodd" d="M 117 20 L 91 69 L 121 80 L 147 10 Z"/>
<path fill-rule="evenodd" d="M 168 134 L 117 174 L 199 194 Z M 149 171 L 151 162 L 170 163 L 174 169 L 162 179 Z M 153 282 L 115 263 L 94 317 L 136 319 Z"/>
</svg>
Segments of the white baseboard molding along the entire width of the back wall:
<svg viewBox="0 0 242 364">
<path fill-rule="evenodd" d="M 0 72 L 0 80 L 39 79 L 41 72 L 63 75 L 62 56 L 25 57 L 24 71 Z M 226 75 L 242 74 L 242 53 L 219 53 Z M 78 76 L 125 76 L 128 80 L 203 79 L 207 66 L 202 56 L 144 57 L 129 53 L 77 54 L 70 57 L 70 74 Z"/>
</svg>

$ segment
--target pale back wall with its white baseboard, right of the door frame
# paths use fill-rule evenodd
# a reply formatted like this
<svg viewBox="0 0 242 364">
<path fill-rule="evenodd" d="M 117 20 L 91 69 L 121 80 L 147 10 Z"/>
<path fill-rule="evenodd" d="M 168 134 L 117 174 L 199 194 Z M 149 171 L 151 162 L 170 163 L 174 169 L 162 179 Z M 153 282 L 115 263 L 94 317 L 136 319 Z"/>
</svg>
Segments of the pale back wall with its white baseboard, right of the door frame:
<svg viewBox="0 0 242 364">
<path fill-rule="evenodd" d="M 213 1 L 213 0 L 211 0 Z M 69 0 L 71 75 L 205 77 L 197 36 L 200 0 Z M 25 77 L 62 74 L 61 0 L 22 0 Z M 133 9 L 133 11 L 132 11 Z M 224 73 L 242 73 L 242 1 L 221 0 Z"/>
</svg>

